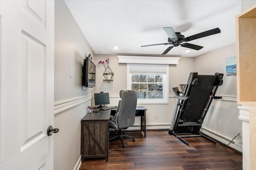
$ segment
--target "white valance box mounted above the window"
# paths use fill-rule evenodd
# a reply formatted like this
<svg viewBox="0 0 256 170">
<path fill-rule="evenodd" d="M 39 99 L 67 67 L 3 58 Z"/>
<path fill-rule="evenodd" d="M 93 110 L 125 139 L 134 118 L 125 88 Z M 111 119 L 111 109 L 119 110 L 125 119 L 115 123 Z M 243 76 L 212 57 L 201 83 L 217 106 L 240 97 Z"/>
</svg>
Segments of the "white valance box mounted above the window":
<svg viewBox="0 0 256 170">
<path fill-rule="evenodd" d="M 136 64 L 179 64 L 180 57 L 147 57 L 118 55 L 118 63 Z"/>
</svg>

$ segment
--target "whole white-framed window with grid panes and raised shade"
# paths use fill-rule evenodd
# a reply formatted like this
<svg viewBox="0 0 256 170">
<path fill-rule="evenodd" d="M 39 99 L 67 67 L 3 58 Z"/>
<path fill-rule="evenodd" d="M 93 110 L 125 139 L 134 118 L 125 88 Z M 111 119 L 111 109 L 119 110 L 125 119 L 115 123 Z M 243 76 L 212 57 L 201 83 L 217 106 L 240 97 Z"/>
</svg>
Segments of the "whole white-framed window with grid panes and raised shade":
<svg viewBox="0 0 256 170">
<path fill-rule="evenodd" d="M 127 89 L 137 92 L 138 104 L 168 103 L 168 64 L 127 64 Z"/>
</svg>

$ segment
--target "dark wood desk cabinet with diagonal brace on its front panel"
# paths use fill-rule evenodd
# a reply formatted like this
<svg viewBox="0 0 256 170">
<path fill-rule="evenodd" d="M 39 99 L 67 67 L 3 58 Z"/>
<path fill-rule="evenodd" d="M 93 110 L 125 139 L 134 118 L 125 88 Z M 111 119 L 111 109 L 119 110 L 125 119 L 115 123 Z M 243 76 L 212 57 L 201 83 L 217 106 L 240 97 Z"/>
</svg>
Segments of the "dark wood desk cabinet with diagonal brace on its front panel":
<svg viewBox="0 0 256 170">
<path fill-rule="evenodd" d="M 81 154 L 85 158 L 106 158 L 108 161 L 108 122 L 110 110 L 85 115 L 81 120 Z"/>
</svg>

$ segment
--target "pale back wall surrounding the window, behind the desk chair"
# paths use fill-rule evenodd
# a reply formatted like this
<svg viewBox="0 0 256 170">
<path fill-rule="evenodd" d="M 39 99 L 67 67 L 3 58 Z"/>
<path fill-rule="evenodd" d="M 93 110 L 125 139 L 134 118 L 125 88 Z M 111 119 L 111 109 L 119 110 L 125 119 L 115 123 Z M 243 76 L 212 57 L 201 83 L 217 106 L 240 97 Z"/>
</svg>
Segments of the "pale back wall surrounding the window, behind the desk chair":
<svg viewBox="0 0 256 170">
<path fill-rule="evenodd" d="M 95 63 L 110 59 L 109 66 L 114 72 L 113 81 L 110 83 L 103 81 L 104 66 L 98 64 L 96 67 L 96 92 L 108 92 L 110 94 L 110 104 L 108 106 L 117 106 L 119 91 L 126 90 L 127 86 L 127 64 L 118 63 L 116 55 L 95 55 Z M 146 61 L 145 61 L 146 62 Z M 176 99 L 172 94 L 172 87 L 177 84 L 187 82 L 188 75 L 194 71 L 194 58 L 183 57 L 178 65 L 169 65 L 169 104 L 140 104 L 148 110 L 146 111 L 146 123 L 151 125 L 147 129 L 169 129 Z M 158 119 L 155 119 L 158 115 Z M 136 117 L 134 125 L 140 125 L 140 117 Z M 131 128 L 130 128 L 131 129 Z M 138 129 L 134 127 L 133 129 Z"/>
</svg>

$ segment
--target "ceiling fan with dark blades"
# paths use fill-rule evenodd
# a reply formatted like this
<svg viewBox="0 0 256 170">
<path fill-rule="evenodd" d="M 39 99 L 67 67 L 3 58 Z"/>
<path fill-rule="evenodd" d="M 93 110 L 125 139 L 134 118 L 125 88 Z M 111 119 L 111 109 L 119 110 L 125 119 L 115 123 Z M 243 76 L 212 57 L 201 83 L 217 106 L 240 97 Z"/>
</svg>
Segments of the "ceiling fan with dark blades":
<svg viewBox="0 0 256 170">
<path fill-rule="evenodd" d="M 190 44 L 190 43 L 183 43 L 183 42 L 188 42 L 188 41 L 192 41 L 194 39 L 198 39 L 198 38 L 202 38 L 202 37 L 207 37 L 209 35 L 214 35 L 214 34 L 220 33 L 220 29 L 219 28 L 214 28 L 214 29 L 210 29 L 208 31 L 204 31 L 202 33 L 191 35 L 191 36 L 185 38 L 185 36 L 180 34 L 180 32 L 174 32 L 172 27 L 163 27 L 163 29 L 167 33 L 167 35 L 169 36 L 168 43 L 142 45 L 140 47 L 148 47 L 148 46 L 154 46 L 154 45 L 169 45 L 169 44 L 172 45 L 172 46 L 168 47 L 164 51 L 164 53 L 162 53 L 162 55 L 165 55 L 173 47 L 177 47 L 179 45 L 181 47 L 186 47 L 186 48 L 189 48 L 189 49 L 200 50 L 200 49 L 203 48 L 202 46 L 194 45 L 194 44 Z"/>
</svg>

